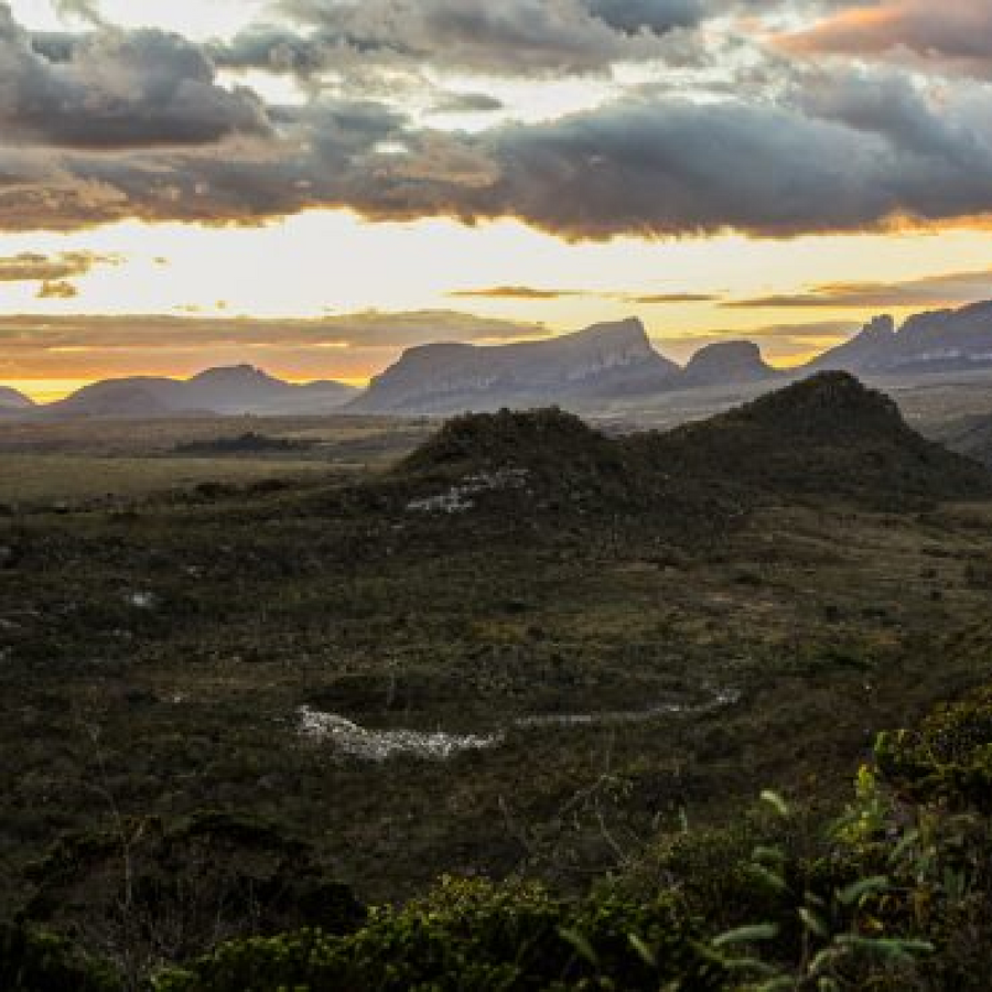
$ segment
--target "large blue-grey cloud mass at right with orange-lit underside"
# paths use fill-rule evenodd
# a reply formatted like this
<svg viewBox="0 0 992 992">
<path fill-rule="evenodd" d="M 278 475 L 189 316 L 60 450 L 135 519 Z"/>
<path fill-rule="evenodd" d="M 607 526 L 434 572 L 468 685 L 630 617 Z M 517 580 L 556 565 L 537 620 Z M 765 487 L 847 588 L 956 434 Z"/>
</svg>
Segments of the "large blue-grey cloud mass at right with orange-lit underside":
<svg viewBox="0 0 992 992">
<path fill-rule="evenodd" d="M 992 132 L 945 112 L 953 127 L 934 111 L 907 133 L 898 122 L 853 127 L 794 105 L 623 100 L 486 132 L 471 147 L 498 179 L 409 187 L 406 206 L 429 206 L 443 191 L 456 216 L 518 216 L 574 238 L 792 235 L 988 212 Z M 376 216 L 390 188 L 387 172 L 356 196 L 365 193 L 362 208 Z"/>
</svg>

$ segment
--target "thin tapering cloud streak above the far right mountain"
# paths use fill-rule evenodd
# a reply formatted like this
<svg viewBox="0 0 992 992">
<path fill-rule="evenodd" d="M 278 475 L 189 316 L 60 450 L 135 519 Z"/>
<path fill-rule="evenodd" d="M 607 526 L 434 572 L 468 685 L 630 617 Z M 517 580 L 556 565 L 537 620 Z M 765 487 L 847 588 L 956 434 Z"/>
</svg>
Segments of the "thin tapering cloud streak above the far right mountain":
<svg viewBox="0 0 992 992">
<path fill-rule="evenodd" d="M 801 293 L 757 296 L 723 303 L 733 309 L 852 309 L 885 306 L 942 306 L 972 303 L 992 296 L 992 269 L 928 276 L 904 282 L 834 282 Z"/>
</svg>

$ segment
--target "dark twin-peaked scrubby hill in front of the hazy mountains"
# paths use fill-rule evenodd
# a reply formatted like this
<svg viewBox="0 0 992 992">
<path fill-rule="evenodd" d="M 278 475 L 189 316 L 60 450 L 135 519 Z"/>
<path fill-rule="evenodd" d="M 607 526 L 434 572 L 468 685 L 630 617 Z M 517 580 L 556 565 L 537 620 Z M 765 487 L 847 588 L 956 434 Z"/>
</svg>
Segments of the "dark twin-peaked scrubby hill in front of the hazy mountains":
<svg viewBox="0 0 992 992">
<path fill-rule="evenodd" d="M 645 511 L 675 529 L 797 498 L 888 509 L 992 495 L 986 468 L 920 436 L 888 397 L 845 373 L 667 433 L 607 438 L 558 409 L 463 414 L 398 472 L 510 515 Z M 424 488 L 414 505 L 432 505 Z"/>
</svg>

